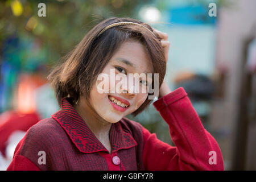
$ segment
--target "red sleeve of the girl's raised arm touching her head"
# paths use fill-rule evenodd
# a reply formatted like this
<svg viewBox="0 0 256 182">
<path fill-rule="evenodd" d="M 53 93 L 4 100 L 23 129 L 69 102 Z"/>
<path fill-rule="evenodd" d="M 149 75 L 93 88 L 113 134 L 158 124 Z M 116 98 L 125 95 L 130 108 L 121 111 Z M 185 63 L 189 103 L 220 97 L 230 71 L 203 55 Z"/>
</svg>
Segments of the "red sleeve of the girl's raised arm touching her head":
<svg viewBox="0 0 256 182">
<path fill-rule="evenodd" d="M 220 147 L 204 129 L 182 87 L 153 105 L 167 122 L 175 147 L 143 128 L 142 155 L 146 170 L 224 170 Z"/>
</svg>

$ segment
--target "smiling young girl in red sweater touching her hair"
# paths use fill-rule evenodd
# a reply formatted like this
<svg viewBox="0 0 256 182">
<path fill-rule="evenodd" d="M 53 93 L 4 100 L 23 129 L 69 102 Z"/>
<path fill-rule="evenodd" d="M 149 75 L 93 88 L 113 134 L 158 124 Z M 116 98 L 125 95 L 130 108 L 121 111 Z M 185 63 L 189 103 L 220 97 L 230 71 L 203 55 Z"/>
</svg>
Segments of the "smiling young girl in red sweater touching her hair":
<svg viewBox="0 0 256 182">
<path fill-rule="evenodd" d="M 220 148 L 185 90 L 171 92 L 164 82 L 167 38 L 131 18 L 97 24 L 48 76 L 61 109 L 27 131 L 7 170 L 223 170 Z M 117 87 L 121 92 L 104 85 L 100 92 L 98 76 L 113 80 L 113 70 L 127 78 L 158 77 Z M 148 92 L 152 85 L 154 93 Z M 146 93 L 134 91 L 143 88 Z M 141 113 L 158 91 L 153 105 L 168 123 L 175 147 L 125 118 Z"/>
</svg>

